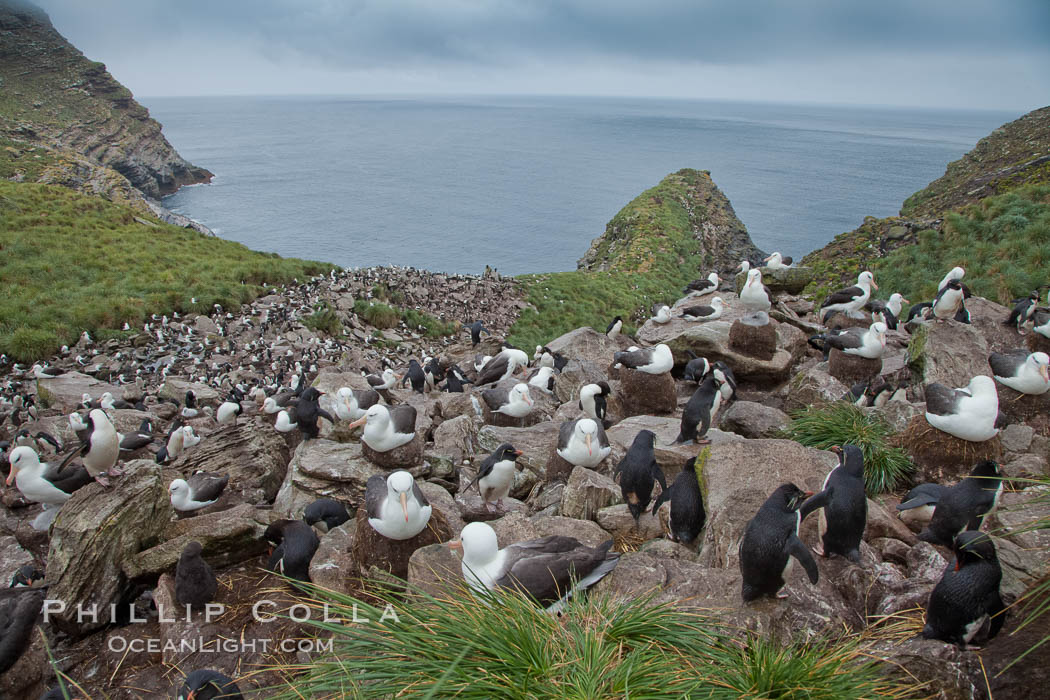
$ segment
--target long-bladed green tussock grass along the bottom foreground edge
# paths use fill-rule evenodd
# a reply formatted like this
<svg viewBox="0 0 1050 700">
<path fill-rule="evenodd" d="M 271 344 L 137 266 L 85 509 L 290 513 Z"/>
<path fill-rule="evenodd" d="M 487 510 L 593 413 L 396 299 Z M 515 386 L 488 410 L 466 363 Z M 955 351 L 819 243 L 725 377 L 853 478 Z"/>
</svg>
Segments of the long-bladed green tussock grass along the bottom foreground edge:
<svg viewBox="0 0 1050 700">
<path fill-rule="evenodd" d="M 277 698 L 833 698 L 905 697 L 857 641 L 738 641 L 717 620 L 651 598 L 591 594 L 552 616 L 520 594 L 462 589 L 378 604 L 312 589 L 312 624 L 333 652 L 280 667 Z M 379 622 L 385 603 L 388 615 Z M 370 623 L 324 622 L 329 617 Z M 910 690 L 910 688 L 909 688 Z"/>
</svg>

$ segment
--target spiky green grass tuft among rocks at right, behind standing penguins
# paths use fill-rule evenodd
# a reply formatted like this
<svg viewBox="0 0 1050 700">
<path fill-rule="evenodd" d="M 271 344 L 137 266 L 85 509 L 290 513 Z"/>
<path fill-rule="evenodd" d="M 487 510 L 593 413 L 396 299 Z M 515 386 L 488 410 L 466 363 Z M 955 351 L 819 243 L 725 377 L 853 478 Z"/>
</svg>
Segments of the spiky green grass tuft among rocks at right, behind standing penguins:
<svg viewBox="0 0 1050 700">
<path fill-rule="evenodd" d="M 864 453 L 864 483 L 872 495 L 891 491 L 915 470 L 899 447 L 891 445 L 889 425 L 875 413 L 839 401 L 792 413 L 785 437 L 817 449 L 857 445 Z"/>
</svg>

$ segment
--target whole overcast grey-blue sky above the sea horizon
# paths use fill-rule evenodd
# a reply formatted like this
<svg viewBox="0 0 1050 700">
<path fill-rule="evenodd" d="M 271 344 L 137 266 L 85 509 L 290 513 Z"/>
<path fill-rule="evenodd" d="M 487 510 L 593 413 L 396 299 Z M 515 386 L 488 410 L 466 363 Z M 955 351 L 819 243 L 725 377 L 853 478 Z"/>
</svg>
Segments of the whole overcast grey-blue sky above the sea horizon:
<svg viewBox="0 0 1050 700">
<path fill-rule="evenodd" d="M 1050 0 L 37 1 L 140 97 L 1050 104 Z"/>
</svg>

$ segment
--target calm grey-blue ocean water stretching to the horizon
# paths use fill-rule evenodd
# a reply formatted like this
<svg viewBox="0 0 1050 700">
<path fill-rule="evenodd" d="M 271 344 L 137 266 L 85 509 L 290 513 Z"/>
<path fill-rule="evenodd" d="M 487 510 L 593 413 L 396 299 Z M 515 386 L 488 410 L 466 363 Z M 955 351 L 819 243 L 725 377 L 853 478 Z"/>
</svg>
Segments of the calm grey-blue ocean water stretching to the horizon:
<svg viewBox="0 0 1050 700">
<path fill-rule="evenodd" d="M 215 173 L 165 204 L 250 248 L 344 267 L 572 270 L 620 209 L 710 170 L 762 250 L 898 212 L 1020 114 L 578 98 L 149 98 Z"/>
</svg>

